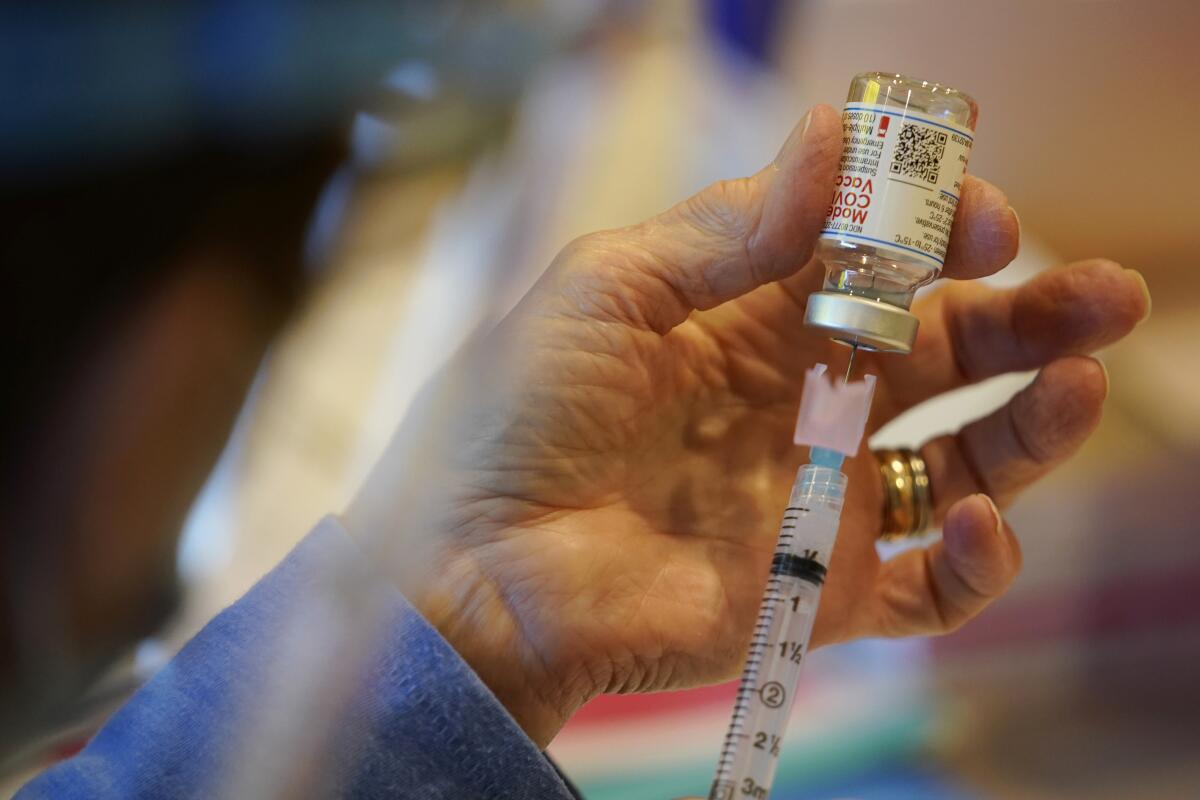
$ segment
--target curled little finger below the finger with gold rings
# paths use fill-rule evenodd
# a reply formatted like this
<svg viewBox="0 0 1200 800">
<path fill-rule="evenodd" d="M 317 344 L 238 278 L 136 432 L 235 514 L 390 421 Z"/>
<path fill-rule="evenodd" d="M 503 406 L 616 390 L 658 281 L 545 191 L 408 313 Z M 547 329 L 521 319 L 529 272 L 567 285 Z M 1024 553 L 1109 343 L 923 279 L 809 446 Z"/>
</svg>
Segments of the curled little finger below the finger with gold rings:
<svg viewBox="0 0 1200 800">
<path fill-rule="evenodd" d="M 964 498 L 947 512 L 941 541 L 883 564 L 876 632 L 953 631 L 1002 595 L 1020 569 L 1020 545 L 996 506 L 983 494 Z"/>
</svg>

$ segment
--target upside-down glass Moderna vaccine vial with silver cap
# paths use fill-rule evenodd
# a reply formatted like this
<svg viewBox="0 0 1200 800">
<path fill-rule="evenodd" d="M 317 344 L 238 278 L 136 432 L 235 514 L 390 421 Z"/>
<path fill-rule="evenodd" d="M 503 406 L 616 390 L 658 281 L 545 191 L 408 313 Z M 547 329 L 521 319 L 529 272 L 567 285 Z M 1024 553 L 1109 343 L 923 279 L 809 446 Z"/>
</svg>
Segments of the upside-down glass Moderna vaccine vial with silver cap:
<svg viewBox="0 0 1200 800">
<path fill-rule="evenodd" d="M 908 353 L 913 294 L 946 260 L 978 106 L 949 86 L 864 72 L 842 109 L 842 156 L 804 321 L 845 344 Z"/>
</svg>

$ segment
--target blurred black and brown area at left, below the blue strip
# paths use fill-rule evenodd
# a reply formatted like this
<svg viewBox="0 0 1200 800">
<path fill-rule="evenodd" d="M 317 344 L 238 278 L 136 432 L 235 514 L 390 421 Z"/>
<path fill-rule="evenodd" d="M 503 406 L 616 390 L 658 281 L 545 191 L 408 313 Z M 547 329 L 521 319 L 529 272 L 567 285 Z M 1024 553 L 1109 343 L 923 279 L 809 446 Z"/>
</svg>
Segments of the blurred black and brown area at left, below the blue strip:
<svg viewBox="0 0 1200 800">
<path fill-rule="evenodd" d="M 41 690 L 70 702 L 174 608 L 173 531 L 295 308 L 308 217 L 343 152 L 331 137 L 266 151 L 187 148 L 4 192 L 0 259 L 14 302 L 2 324 L 13 359 L 0 524 L 5 584 L 20 601 L 0 626 L 6 711 L 32 712 Z M 186 331 L 148 319 L 163 302 L 175 314 L 202 303 L 206 319 Z M 144 387 L 122 371 L 139 319 L 161 348 L 137 375 Z M 182 337 L 203 341 L 217 325 L 229 347 L 198 373 Z M 173 387 L 174 417 L 156 416 L 155 392 Z M 142 429 L 120 441 L 104 433 L 134 421 Z M 106 486 L 114 470 L 124 487 Z M 37 630 L 60 631 L 61 648 L 23 648 Z M 66 654 L 82 670 L 55 687 L 47 676 Z"/>
</svg>

